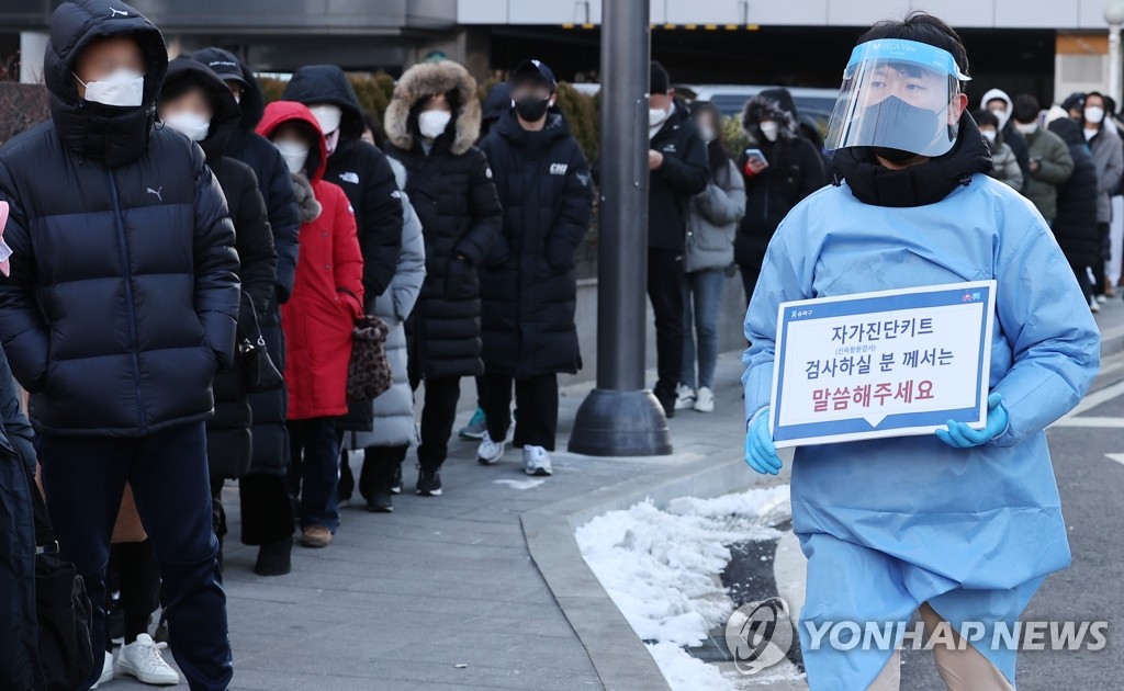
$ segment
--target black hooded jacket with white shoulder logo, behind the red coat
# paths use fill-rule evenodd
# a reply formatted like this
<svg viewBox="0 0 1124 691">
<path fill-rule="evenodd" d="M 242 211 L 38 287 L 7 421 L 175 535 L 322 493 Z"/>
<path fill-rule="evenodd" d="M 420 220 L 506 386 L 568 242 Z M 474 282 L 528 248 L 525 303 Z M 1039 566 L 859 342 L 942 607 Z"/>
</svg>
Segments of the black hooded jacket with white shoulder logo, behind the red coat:
<svg viewBox="0 0 1124 691">
<path fill-rule="evenodd" d="M 402 244 L 402 202 L 387 156 L 363 142 L 363 110 L 347 75 L 336 65 L 311 65 L 293 73 L 287 101 L 329 103 L 343 111 L 339 140 L 328 156 L 324 179 L 343 188 L 355 209 L 363 249 L 363 289 L 381 296 L 398 266 Z"/>
</svg>

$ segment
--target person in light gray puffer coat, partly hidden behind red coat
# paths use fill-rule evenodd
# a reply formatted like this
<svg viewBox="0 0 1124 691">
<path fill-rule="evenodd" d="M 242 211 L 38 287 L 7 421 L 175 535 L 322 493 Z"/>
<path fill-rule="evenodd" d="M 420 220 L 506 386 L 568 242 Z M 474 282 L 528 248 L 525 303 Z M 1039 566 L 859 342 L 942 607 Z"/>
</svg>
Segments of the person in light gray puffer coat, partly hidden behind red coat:
<svg viewBox="0 0 1124 691">
<path fill-rule="evenodd" d="M 406 169 L 395 158 L 388 160 L 399 190 L 405 190 Z M 366 499 L 368 511 L 380 512 L 393 510 L 392 497 L 401 491 L 402 461 L 410 446 L 418 443 L 414 392 L 407 375 L 406 319 L 414 311 L 425 281 L 425 240 L 422 220 L 406 192 L 401 192 L 401 200 L 405 222 L 398 267 L 388 290 L 368 303 L 368 313 L 390 327 L 386 348 L 393 385 L 374 399 L 373 431 L 355 431 L 347 437 L 350 448 L 365 449 L 359 491 Z"/>
</svg>

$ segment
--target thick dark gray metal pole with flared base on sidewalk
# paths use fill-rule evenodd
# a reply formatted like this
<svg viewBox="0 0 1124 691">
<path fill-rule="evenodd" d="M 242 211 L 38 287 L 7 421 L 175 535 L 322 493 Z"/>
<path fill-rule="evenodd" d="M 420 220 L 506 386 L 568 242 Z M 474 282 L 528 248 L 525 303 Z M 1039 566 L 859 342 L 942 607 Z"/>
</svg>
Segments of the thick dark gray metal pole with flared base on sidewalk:
<svg viewBox="0 0 1124 691">
<path fill-rule="evenodd" d="M 570 436 L 571 452 L 593 456 L 671 453 L 663 409 L 644 388 L 649 21 L 649 0 L 601 4 L 597 389 Z"/>
</svg>

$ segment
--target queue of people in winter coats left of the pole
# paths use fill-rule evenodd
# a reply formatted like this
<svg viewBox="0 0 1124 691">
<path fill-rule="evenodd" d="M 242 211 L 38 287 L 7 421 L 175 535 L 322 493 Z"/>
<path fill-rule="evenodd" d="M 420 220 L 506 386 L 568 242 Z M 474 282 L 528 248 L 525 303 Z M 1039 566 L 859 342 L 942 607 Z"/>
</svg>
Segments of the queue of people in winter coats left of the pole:
<svg viewBox="0 0 1124 691">
<path fill-rule="evenodd" d="M 442 493 L 462 376 L 483 378 L 497 443 L 481 462 L 502 458 L 514 427 L 524 471 L 552 473 L 558 374 L 581 367 L 590 167 L 540 61 L 513 71 L 486 137 L 464 67 L 416 65 L 383 133 L 334 65 L 298 70 L 265 104 L 237 56 L 169 61 L 158 29 L 119 2 L 64 2 L 51 31 L 52 118 L 0 148 L 0 344 L 30 393 L 37 452 L 4 465 L 4 487 L 26 500 L 39 489 L 7 471 L 38 469 L 60 556 L 85 582 L 94 669 L 81 688 L 115 673 L 180 682 L 151 635 L 162 606 L 156 638 L 189 685 L 225 689 L 226 480 L 255 572 L 288 573 L 296 528 L 305 546 L 330 544 L 355 489 L 350 451 L 364 452 L 370 511 L 392 510 L 413 446 L 416 492 Z M 364 315 L 389 327 L 393 382 L 350 401 Z M 0 367 L 18 400 L 8 379 Z M 16 435 L 27 421 L 9 408 Z M 19 516 L 0 585 L 30 592 Z M 34 618 L 27 598 L 3 613 Z M 15 630 L 0 628 L 0 685 L 35 688 L 34 640 L 9 642 Z"/>
</svg>

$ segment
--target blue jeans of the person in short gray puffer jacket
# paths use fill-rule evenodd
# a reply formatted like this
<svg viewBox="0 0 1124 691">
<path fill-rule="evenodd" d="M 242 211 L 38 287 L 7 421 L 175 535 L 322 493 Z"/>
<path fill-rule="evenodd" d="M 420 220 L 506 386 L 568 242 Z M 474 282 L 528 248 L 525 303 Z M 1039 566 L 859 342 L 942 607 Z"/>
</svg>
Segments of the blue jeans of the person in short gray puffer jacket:
<svg viewBox="0 0 1124 691">
<path fill-rule="evenodd" d="M 680 383 L 714 389 L 718 364 L 718 308 L 725 272 L 720 269 L 695 271 L 683 281 L 683 373 Z M 695 378 L 696 338 L 698 339 L 698 380 Z"/>
</svg>

